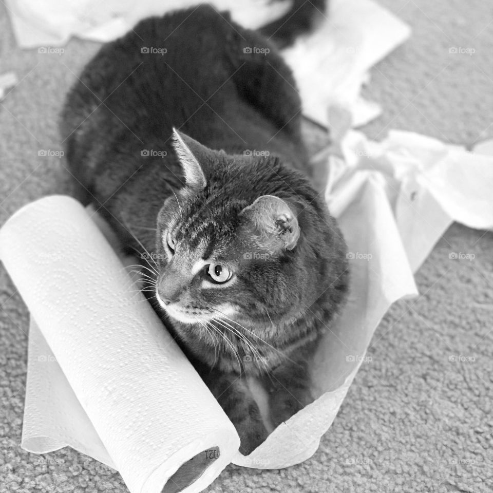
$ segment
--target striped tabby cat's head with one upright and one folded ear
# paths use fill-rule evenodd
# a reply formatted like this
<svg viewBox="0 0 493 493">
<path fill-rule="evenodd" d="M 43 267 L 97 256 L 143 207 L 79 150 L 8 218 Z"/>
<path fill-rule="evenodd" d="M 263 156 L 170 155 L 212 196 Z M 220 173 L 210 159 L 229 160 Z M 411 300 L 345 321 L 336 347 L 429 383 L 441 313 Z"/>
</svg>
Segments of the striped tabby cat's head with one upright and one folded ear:
<svg viewBox="0 0 493 493">
<path fill-rule="evenodd" d="M 268 330 L 327 293 L 344 241 L 301 175 L 177 131 L 174 147 L 185 185 L 158 216 L 156 297 L 179 330 L 214 319 Z"/>
</svg>

